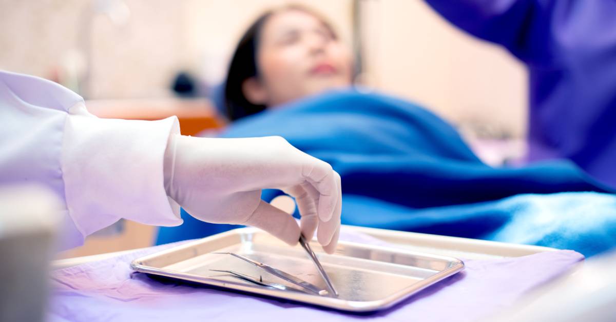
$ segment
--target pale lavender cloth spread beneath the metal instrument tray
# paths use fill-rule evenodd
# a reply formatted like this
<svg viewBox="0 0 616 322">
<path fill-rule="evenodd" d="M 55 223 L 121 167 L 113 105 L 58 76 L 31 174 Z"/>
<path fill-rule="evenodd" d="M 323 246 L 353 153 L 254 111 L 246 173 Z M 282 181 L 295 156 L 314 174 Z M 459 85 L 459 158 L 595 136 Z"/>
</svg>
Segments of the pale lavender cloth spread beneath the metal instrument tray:
<svg viewBox="0 0 616 322">
<path fill-rule="evenodd" d="M 342 240 L 383 242 L 352 231 Z M 51 273 L 50 321 L 474 321 L 509 307 L 526 292 L 567 272 L 583 256 L 554 251 L 524 257 L 466 260 L 466 270 L 393 308 L 368 314 L 338 312 L 285 300 L 158 281 L 133 273 L 137 257 L 156 246 Z"/>
</svg>

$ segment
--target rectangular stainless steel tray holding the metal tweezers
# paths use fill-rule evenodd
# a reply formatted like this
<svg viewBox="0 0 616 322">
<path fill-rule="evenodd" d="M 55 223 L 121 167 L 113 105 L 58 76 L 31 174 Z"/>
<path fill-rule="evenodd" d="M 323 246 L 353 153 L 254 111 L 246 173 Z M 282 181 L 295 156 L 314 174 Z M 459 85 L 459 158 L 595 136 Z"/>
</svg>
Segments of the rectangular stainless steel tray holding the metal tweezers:
<svg viewBox="0 0 616 322">
<path fill-rule="evenodd" d="M 264 296 L 296 300 L 355 312 L 391 307 L 464 268 L 453 257 L 341 241 L 333 255 L 310 243 L 340 293 L 326 297 L 259 286 L 216 270 L 234 270 L 264 281 L 285 284 L 251 264 L 211 252 L 235 252 L 264 262 L 325 289 L 314 264 L 301 246 L 290 247 L 256 228 L 239 228 L 199 239 L 132 262 L 137 272 L 167 276 Z"/>
</svg>

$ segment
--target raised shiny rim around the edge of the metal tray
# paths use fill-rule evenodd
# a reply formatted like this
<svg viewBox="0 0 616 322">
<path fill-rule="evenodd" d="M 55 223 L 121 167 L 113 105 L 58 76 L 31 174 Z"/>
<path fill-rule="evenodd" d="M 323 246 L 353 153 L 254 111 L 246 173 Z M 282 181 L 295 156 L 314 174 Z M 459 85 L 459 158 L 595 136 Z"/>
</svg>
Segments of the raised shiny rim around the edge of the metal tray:
<svg viewBox="0 0 616 322">
<path fill-rule="evenodd" d="M 217 286 L 217 287 L 226 288 L 226 289 L 233 289 L 237 291 L 250 292 L 250 293 L 258 294 L 261 296 L 265 295 L 265 296 L 277 297 L 280 299 L 294 300 L 296 302 L 302 302 L 302 303 L 307 303 L 310 305 L 318 305 L 322 307 L 334 308 L 336 310 L 344 310 L 344 311 L 350 311 L 350 312 L 371 312 L 371 311 L 384 310 L 386 308 L 390 308 L 393 305 L 398 304 L 402 300 L 405 300 L 408 297 L 413 296 L 413 294 L 416 294 L 417 292 L 425 288 L 428 288 L 428 286 L 431 286 L 432 284 L 435 284 L 441 280 L 444 280 L 445 278 L 448 278 L 449 276 L 452 276 L 458 272 L 461 272 L 462 270 L 464 270 L 464 267 L 465 267 L 463 260 L 458 259 L 456 257 L 442 256 L 442 255 L 437 255 L 437 254 L 428 254 L 425 252 L 417 252 L 417 251 L 411 251 L 407 249 L 392 248 L 392 247 L 386 247 L 386 246 L 354 243 L 350 241 L 339 241 L 339 244 L 348 244 L 348 245 L 354 245 L 354 246 L 360 245 L 364 248 L 369 248 L 369 249 L 377 249 L 377 250 L 380 249 L 384 251 L 393 251 L 393 252 L 398 252 L 398 253 L 407 254 L 407 255 L 415 255 L 415 256 L 427 256 L 427 257 L 432 257 L 436 259 L 447 260 L 453 263 L 452 266 L 445 268 L 445 270 L 442 270 L 432 276 L 429 276 L 428 278 L 418 281 L 417 283 L 411 286 L 408 286 L 407 288 L 401 289 L 400 291 L 397 291 L 387 297 L 384 297 L 383 299 L 370 300 L 370 301 L 357 301 L 357 300 L 341 300 L 341 299 L 335 299 L 331 297 L 318 297 L 318 296 L 312 296 L 309 294 L 303 294 L 299 292 L 294 293 L 294 292 L 282 291 L 278 289 L 265 289 L 257 285 L 253 286 L 250 284 L 239 283 L 239 282 L 233 283 L 232 281 L 222 281 L 222 280 L 217 280 L 215 278 L 206 278 L 201 275 L 174 272 L 172 270 L 164 270 L 162 268 L 151 267 L 151 266 L 147 266 L 144 264 L 144 262 L 147 260 L 155 259 L 156 257 L 164 256 L 166 254 L 179 251 L 181 249 L 192 248 L 194 246 L 197 246 L 198 244 L 208 243 L 208 241 L 211 241 L 213 239 L 224 238 L 227 235 L 236 235 L 236 234 L 241 234 L 241 233 L 258 233 L 258 232 L 265 233 L 259 228 L 254 228 L 254 227 L 235 228 L 233 230 L 224 231 L 223 233 L 218 233 L 216 235 L 197 239 L 195 241 L 190 241 L 188 243 L 174 246 L 169 249 L 164 249 L 163 251 L 159 251 L 153 254 L 148 254 L 146 256 L 139 257 L 137 259 L 132 260 L 131 268 L 132 270 L 136 272 L 159 275 L 159 276 L 166 276 L 169 278 L 176 278 L 179 280 L 192 281 L 192 282 L 201 283 L 201 284 L 208 284 L 212 286 Z"/>
</svg>

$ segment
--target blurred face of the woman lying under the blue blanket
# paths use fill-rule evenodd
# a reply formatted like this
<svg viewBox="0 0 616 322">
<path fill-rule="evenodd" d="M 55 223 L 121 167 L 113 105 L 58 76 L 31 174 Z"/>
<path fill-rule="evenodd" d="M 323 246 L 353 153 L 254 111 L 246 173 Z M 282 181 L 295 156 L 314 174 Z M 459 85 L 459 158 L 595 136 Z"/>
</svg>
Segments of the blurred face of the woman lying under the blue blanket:
<svg viewBox="0 0 616 322">
<path fill-rule="evenodd" d="M 351 54 L 314 15 L 289 9 L 261 30 L 256 80 L 268 107 L 351 85 Z"/>
</svg>

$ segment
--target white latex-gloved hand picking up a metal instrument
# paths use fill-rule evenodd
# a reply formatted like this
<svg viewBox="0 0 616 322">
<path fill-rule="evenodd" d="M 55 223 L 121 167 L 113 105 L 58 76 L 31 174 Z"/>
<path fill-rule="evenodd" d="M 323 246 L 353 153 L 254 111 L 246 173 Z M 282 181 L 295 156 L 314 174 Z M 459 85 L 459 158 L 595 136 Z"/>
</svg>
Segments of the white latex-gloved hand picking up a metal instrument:
<svg viewBox="0 0 616 322">
<path fill-rule="evenodd" d="M 338 243 L 342 194 L 331 166 L 282 137 L 210 139 L 171 135 L 164 161 L 168 195 L 205 222 L 251 225 L 288 244 L 300 231 L 332 253 Z M 291 215 L 261 200 L 274 188 L 296 199 L 301 228 Z"/>
</svg>

